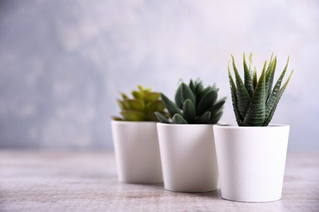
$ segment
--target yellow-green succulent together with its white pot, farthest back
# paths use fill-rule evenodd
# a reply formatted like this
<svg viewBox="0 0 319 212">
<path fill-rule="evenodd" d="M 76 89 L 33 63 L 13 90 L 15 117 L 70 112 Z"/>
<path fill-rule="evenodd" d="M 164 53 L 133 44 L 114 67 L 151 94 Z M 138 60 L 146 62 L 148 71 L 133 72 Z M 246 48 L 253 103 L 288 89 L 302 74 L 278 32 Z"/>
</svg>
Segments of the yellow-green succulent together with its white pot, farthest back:
<svg viewBox="0 0 319 212">
<path fill-rule="evenodd" d="M 138 86 L 133 99 L 117 100 L 122 117 L 113 117 L 112 134 L 118 180 L 125 183 L 162 183 L 163 174 L 154 112 L 169 117 L 160 94 Z"/>
</svg>

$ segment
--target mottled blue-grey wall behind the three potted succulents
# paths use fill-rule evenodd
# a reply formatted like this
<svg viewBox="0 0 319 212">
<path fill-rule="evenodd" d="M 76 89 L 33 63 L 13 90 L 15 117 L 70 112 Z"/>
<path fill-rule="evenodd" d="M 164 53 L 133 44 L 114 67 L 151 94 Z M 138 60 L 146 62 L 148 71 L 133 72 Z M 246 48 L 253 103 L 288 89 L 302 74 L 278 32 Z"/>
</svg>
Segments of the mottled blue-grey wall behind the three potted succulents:
<svg viewBox="0 0 319 212">
<path fill-rule="evenodd" d="M 217 82 L 235 123 L 227 62 L 294 75 L 272 123 L 289 148 L 319 148 L 318 1 L 0 1 L 0 147 L 112 147 L 118 91 L 173 97 L 179 78 Z"/>
</svg>

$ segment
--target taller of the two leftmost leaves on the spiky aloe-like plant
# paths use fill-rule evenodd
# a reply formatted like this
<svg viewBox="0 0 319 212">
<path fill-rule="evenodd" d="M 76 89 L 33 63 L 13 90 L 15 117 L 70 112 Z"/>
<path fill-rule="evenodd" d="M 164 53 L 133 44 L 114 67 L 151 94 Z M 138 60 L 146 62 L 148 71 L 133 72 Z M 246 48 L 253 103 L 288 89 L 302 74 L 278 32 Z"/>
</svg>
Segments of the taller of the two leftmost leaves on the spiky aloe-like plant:
<svg viewBox="0 0 319 212">
<path fill-rule="evenodd" d="M 247 89 L 244 85 L 244 82 L 240 74 L 237 71 L 237 68 L 235 66 L 234 56 L 231 55 L 231 58 L 232 58 L 232 66 L 235 72 L 236 85 L 237 85 L 237 107 L 241 116 L 245 117 L 250 104 L 250 96 L 247 92 Z"/>
</svg>

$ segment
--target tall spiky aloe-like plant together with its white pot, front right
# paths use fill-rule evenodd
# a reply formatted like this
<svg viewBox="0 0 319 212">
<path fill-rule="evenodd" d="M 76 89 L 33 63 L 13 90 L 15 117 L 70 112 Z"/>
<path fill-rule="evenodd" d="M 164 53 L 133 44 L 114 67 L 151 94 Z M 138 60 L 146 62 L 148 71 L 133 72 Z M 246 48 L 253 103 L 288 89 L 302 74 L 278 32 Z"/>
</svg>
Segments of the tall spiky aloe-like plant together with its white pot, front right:
<svg viewBox="0 0 319 212">
<path fill-rule="evenodd" d="M 238 127 L 215 125 L 221 192 L 224 199 L 243 202 L 268 202 L 281 198 L 289 126 L 269 125 L 277 104 L 289 82 L 281 87 L 286 66 L 272 88 L 277 57 L 264 63 L 257 81 L 256 68 L 244 54 L 244 82 L 234 57 L 234 82 L 228 63 L 232 105 Z"/>
</svg>

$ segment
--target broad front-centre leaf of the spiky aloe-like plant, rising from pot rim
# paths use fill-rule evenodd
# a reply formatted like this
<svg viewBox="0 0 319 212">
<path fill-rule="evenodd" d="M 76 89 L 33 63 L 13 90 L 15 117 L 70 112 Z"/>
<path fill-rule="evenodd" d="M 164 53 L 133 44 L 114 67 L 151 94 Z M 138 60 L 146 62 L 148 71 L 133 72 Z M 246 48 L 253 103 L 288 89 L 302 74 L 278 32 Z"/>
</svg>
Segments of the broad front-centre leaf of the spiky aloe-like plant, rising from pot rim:
<svg viewBox="0 0 319 212">
<path fill-rule="evenodd" d="M 251 103 L 244 118 L 244 126 L 262 126 L 265 119 L 265 69 L 263 65 L 261 76 L 256 85 Z"/>
</svg>

